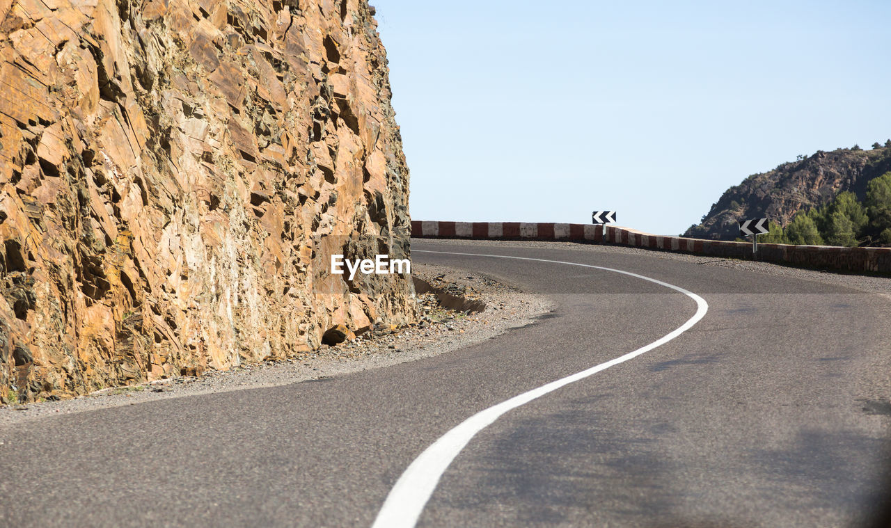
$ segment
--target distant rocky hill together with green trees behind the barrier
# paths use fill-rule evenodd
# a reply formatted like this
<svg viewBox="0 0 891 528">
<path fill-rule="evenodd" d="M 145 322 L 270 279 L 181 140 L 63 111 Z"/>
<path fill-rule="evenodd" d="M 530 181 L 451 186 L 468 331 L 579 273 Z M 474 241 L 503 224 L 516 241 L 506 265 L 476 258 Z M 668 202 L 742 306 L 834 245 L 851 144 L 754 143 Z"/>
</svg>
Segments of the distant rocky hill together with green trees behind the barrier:
<svg viewBox="0 0 891 528">
<path fill-rule="evenodd" d="M 725 191 L 683 236 L 735 240 L 740 221 L 767 217 L 764 242 L 891 245 L 889 173 L 891 140 L 798 156 Z"/>
</svg>

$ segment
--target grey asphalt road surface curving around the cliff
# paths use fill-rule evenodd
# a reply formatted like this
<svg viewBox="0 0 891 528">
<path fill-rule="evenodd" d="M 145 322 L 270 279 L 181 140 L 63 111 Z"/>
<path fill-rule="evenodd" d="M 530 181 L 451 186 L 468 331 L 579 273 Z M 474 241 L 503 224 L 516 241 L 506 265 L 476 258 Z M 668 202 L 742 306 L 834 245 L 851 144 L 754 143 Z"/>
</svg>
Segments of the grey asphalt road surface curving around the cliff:
<svg viewBox="0 0 891 528">
<path fill-rule="evenodd" d="M 634 272 L 706 299 L 674 340 L 487 426 L 420 526 L 848 526 L 887 506 L 891 305 L 764 273 L 590 248 L 413 241 Z M 369 526 L 479 410 L 665 336 L 696 304 L 616 272 L 415 252 L 551 296 L 454 353 L 290 386 L 0 429 L 0 526 Z"/>
</svg>

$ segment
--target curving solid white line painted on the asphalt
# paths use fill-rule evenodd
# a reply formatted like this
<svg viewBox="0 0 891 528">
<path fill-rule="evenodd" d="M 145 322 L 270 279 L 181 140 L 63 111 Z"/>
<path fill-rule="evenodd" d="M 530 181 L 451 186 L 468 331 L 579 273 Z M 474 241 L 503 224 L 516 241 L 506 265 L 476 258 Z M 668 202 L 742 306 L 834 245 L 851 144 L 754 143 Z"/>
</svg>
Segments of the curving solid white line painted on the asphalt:
<svg viewBox="0 0 891 528">
<path fill-rule="evenodd" d="M 708 312 L 708 303 L 706 302 L 706 300 L 696 295 L 695 293 L 692 293 L 691 291 L 687 291 L 684 288 L 674 286 L 673 284 L 668 284 L 667 282 L 663 282 L 661 280 L 650 279 L 650 277 L 644 277 L 643 275 L 638 275 L 637 273 L 623 272 L 622 270 L 615 270 L 613 268 L 605 268 L 602 266 L 594 266 L 591 264 L 578 264 L 575 262 L 562 262 L 559 260 L 546 260 L 544 258 L 528 258 L 524 256 L 481 255 L 478 253 L 452 253 L 450 251 L 426 251 L 421 249 L 415 249 L 414 252 L 441 253 L 445 255 L 513 258 L 518 260 L 532 260 L 536 262 L 546 262 L 552 264 L 568 264 L 573 266 L 582 266 L 585 268 L 594 268 L 597 270 L 605 270 L 607 272 L 622 273 L 623 275 L 629 275 L 638 279 L 655 282 L 656 284 L 665 286 L 666 288 L 671 288 L 675 291 L 679 291 L 685 296 L 689 296 L 691 299 L 696 301 L 696 313 L 690 319 L 684 322 L 683 325 L 669 332 L 664 337 L 653 341 L 652 343 L 650 343 L 650 345 L 642 346 L 634 352 L 626 353 L 625 355 L 619 356 L 616 359 L 593 366 L 588 370 L 582 370 L 581 372 L 578 372 L 571 376 L 567 376 L 566 378 L 560 378 L 556 381 L 552 381 L 547 385 L 540 386 L 523 394 L 519 394 L 512 397 L 506 402 L 498 403 L 497 405 L 493 405 L 486 410 L 480 410 L 477 414 L 471 416 L 470 418 L 467 418 L 461 424 L 449 430 L 446 435 L 443 435 L 439 438 L 439 440 L 430 445 L 429 448 L 424 450 L 424 452 L 422 452 L 417 459 L 414 459 L 412 464 L 405 469 L 405 472 L 402 474 L 402 476 L 399 477 L 399 480 L 396 481 L 393 489 L 390 490 L 387 496 L 387 500 L 384 500 L 384 504 L 380 508 L 380 512 L 378 512 L 377 518 L 374 519 L 372 528 L 413 527 L 418 522 L 418 518 L 421 516 L 421 512 L 423 511 L 424 506 L 427 504 L 427 501 L 430 499 L 430 496 L 436 489 L 437 483 L 439 483 L 439 478 L 443 475 L 443 473 L 446 472 L 446 468 L 448 468 L 449 465 L 452 464 L 452 460 L 454 460 L 454 458 L 458 456 L 458 453 L 460 453 L 461 450 L 464 449 L 464 446 L 470 442 L 470 439 L 473 438 L 474 435 L 482 431 L 484 428 L 486 428 L 486 426 L 493 423 L 496 419 L 500 418 L 505 412 L 516 409 L 524 403 L 531 402 L 536 398 L 544 396 L 544 394 L 551 393 L 559 389 L 561 386 L 569 385 L 570 383 L 578 381 L 579 379 L 588 378 L 589 376 L 592 376 L 593 374 L 596 374 L 601 370 L 607 370 L 609 369 L 609 367 L 633 359 L 641 355 L 642 353 L 650 352 L 650 350 L 660 345 L 665 345 L 667 342 L 674 339 L 674 337 L 678 337 L 683 334 L 683 332 L 691 329 L 692 326 L 699 322 L 699 320 L 701 320 L 703 317 L 705 317 L 706 313 Z"/>
</svg>

